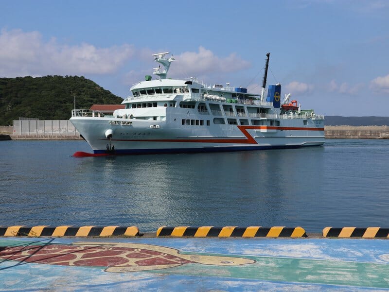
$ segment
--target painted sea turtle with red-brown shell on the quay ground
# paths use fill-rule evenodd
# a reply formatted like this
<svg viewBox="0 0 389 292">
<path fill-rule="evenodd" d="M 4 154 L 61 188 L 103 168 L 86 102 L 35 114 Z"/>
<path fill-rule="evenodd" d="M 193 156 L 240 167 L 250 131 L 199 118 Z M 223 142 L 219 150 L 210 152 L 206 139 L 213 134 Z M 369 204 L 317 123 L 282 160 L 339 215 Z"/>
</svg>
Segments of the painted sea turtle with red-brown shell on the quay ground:
<svg viewBox="0 0 389 292">
<path fill-rule="evenodd" d="M 160 270 L 192 263 L 217 266 L 255 263 L 247 258 L 180 254 L 177 249 L 158 245 L 109 242 L 10 246 L 0 251 L 0 260 L 106 267 L 106 272 Z"/>
</svg>

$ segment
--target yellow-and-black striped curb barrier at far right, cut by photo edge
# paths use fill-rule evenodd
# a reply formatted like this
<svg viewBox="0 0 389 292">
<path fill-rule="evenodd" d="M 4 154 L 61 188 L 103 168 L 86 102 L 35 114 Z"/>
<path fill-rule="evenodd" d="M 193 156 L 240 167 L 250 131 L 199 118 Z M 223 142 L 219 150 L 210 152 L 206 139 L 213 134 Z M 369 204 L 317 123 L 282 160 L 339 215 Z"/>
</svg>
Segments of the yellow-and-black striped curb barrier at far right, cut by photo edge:
<svg viewBox="0 0 389 292">
<path fill-rule="evenodd" d="M 343 227 L 333 228 L 325 227 L 323 229 L 323 237 L 337 237 L 337 238 L 389 238 L 389 228 L 380 227 Z"/>
</svg>

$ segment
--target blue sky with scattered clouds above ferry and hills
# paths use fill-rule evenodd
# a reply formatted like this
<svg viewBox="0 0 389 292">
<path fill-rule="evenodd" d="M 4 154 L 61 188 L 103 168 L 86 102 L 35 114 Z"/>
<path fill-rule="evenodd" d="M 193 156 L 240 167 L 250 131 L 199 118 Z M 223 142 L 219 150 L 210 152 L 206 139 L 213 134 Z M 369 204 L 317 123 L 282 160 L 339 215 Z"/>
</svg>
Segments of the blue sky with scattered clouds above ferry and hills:
<svg viewBox="0 0 389 292">
<path fill-rule="evenodd" d="M 0 3 L 0 77 L 85 76 L 125 98 L 170 52 L 169 78 L 259 93 L 270 52 L 268 85 L 302 109 L 389 116 L 388 0 Z"/>
</svg>

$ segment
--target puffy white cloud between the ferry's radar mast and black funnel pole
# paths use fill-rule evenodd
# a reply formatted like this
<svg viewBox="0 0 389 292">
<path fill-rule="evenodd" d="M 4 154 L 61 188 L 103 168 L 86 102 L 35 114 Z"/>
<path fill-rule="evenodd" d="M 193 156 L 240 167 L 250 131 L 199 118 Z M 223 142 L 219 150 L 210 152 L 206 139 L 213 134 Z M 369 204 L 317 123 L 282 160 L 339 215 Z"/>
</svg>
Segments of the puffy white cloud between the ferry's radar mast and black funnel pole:
<svg viewBox="0 0 389 292">
<path fill-rule="evenodd" d="M 207 50 L 202 46 L 198 48 L 198 52 L 183 52 L 174 57 L 176 64 L 171 69 L 173 74 L 181 73 L 181 71 L 191 76 L 213 72 L 226 73 L 246 69 L 251 66 L 248 61 L 243 60 L 235 53 L 231 53 L 225 58 L 220 58 L 214 55 L 211 50 Z"/>
</svg>

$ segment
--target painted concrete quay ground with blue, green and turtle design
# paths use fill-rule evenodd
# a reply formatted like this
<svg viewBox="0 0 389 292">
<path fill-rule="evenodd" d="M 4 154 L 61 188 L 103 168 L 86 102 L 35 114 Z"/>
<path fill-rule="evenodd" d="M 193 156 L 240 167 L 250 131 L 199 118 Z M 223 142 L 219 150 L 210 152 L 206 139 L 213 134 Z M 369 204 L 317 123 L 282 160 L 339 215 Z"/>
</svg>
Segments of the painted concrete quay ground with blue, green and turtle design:
<svg viewBox="0 0 389 292">
<path fill-rule="evenodd" d="M 389 291 L 389 240 L 0 239 L 0 291 Z"/>
</svg>

